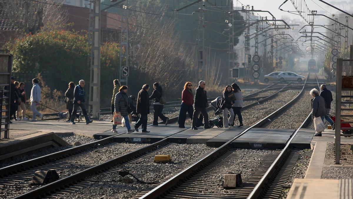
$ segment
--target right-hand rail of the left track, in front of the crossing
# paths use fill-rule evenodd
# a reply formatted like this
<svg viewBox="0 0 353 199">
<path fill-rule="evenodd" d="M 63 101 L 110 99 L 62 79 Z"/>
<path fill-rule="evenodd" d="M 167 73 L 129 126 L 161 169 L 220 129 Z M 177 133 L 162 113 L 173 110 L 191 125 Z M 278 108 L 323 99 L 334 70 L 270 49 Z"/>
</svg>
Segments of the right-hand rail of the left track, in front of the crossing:
<svg viewBox="0 0 353 199">
<path fill-rule="evenodd" d="M 45 195 L 48 195 L 47 193 L 54 192 L 54 190 L 57 189 L 64 189 L 67 184 L 70 183 L 78 183 L 80 181 L 83 181 L 84 178 L 88 175 L 94 174 L 96 172 L 104 171 L 107 170 L 107 168 L 114 166 L 116 164 L 122 163 L 124 161 L 127 161 L 128 159 L 136 158 L 144 153 L 147 153 L 150 150 L 153 150 L 155 148 L 158 148 L 158 146 L 161 146 L 163 144 L 166 144 L 169 141 L 169 137 L 178 134 L 180 132 L 185 131 L 186 129 L 183 129 L 181 131 L 178 131 L 176 133 L 173 133 L 172 135 L 164 137 L 162 140 L 154 142 L 148 146 L 139 148 L 137 150 L 134 150 L 132 152 L 129 152 L 127 154 L 121 155 L 119 157 L 116 157 L 114 159 L 108 160 L 104 163 L 92 166 L 88 169 L 85 169 L 83 171 L 77 172 L 76 174 L 61 178 L 57 181 L 54 181 L 52 183 L 46 184 L 42 187 L 36 188 L 32 191 L 29 191 L 27 193 L 24 193 L 22 195 L 18 195 L 17 197 L 14 197 L 14 199 L 27 199 L 27 198 L 36 198 L 36 197 L 42 197 Z"/>
</svg>

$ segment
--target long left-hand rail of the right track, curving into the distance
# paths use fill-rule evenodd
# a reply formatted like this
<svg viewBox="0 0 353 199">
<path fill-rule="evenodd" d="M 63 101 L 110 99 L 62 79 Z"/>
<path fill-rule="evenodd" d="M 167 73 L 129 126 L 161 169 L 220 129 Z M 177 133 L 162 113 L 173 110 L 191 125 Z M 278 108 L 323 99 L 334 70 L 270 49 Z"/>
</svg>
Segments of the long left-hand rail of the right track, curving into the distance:
<svg viewBox="0 0 353 199">
<path fill-rule="evenodd" d="M 199 160 L 196 163 L 194 163 L 193 165 L 187 167 L 186 169 L 179 172 L 177 175 L 173 176 L 172 178 L 169 178 L 169 180 L 167 180 L 164 183 L 160 184 L 159 186 L 155 187 L 150 192 L 144 194 L 142 197 L 140 197 L 140 199 L 152 199 L 152 198 L 160 197 L 164 193 L 168 192 L 171 188 L 175 187 L 177 184 L 182 183 L 185 180 L 185 178 L 190 177 L 190 175 L 193 172 L 200 169 L 201 166 L 206 165 L 207 163 L 215 160 L 217 157 L 219 157 L 221 154 L 223 154 L 230 147 L 230 144 L 234 140 L 237 140 L 239 137 L 243 136 L 246 132 L 248 132 L 252 128 L 260 127 L 261 125 L 266 123 L 269 118 L 272 118 L 272 117 L 282 113 L 283 109 L 289 107 L 292 103 L 297 101 L 297 99 L 299 98 L 299 96 L 301 95 L 301 93 L 304 90 L 304 87 L 306 85 L 306 81 L 308 78 L 309 78 L 309 75 L 305 79 L 305 83 L 303 85 L 303 89 L 301 90 L 301 92 L 295 98 L 293 98 L 290 102 L 288 102 L 287 104 L 285 104 L 281 108 L 277 109 L 276 111 L 274 111 L 270 115 L 266 116 L 262 120 L 258 121 L 256 124 L 253 124 L 252 126 L 248 127 L 247 129 L 245 129 L 244 131 L 239 133 L 237 136 L 233 137 L 231 140 L 229 140 L 228 142 L 226 142 L 225 144 L 223 144 L 219 148 L 215 149 L 213 152 L 211 152 L 210 154 L 208 154 L 207 156 L 205 156 L 201 160 Z M 294 136 L 292 136 L 292 137 L 294 137 Z"/>
</svg>

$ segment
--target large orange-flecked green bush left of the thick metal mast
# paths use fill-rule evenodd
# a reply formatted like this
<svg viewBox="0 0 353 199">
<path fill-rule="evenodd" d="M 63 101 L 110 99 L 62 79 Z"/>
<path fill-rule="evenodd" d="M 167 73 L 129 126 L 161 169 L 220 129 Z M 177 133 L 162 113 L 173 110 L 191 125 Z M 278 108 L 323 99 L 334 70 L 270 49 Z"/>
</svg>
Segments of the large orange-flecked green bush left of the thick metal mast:
<svg viewBox="0 0 353 199">
<path fill-rule="evenodd" d="M 87 37 L 66 30 L 43 31 L 26 35 L 6 44 L 13 54 L 13 72 L 41 72 L 50 74 L 50 87 L 60 90 L 68 82 L 89 76 Z M 62 86 L 61 86 L 62 85 Z"/>
</svg>

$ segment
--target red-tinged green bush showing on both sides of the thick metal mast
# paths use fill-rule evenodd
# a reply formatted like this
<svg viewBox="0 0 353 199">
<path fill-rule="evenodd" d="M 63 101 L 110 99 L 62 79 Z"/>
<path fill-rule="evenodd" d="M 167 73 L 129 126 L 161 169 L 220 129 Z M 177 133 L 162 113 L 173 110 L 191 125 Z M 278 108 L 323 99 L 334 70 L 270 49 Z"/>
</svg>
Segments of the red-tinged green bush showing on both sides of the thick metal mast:
<svg viewBox="0 0 353 199">
<path fill-rule="evenodd" d="M 5 49 L 13 54 L 13 72 L 47 74 L 44 80 L 52 89 L 65 92 L 70 81 L 89 83 L 90 49 L 85 32 L 68 30 L 42 31 L 8 42 Z M 119 78 L 119 44 L 101 46 L 101 99 L 110 104 L 113 80 Z M 35 77 L 32 77 L 35 78 Z M 86 92 L 89 84 L 86 84 Z M 103 89 L 102 89 L 103 88 Z M 107 89 L 109 92 L 107 92 Z M 88 97 L 88 96 L 86 96 Z M 110 98 L 110 99 L 109 99 Z"/>
</svg>

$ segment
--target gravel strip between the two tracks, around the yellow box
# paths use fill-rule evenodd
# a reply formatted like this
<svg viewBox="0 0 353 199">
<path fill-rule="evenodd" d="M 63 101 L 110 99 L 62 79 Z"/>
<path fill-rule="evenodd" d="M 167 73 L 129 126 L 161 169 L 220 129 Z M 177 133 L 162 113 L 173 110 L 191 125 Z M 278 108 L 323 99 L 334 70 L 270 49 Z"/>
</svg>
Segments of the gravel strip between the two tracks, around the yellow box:
<svg viewBox="0 0 353 199">
<path fill-rule="evenodd" d="M 119 170 L 130 170 L 134 176 L 145 182 L 161 181 L 173 172 L 189 166 L 190 161 L 200 159 L 212 150 L 214 148 L 207 147 L 205 144 L 171 143 L 168 146 L 161 147 L 152 153 L 128 161 L 125 164 L 116 165 L 102 174 L 86 178 L 114 182 L 85 181 L 85 183 L 89 183 L 89 186 L 78 189 L 75 193 L 57 194 L 50 198 L 132 198 L 134 195 L 150 187 L 151 184 L 139 183 L 131 176 L 123 178 L 119 176 Z M 153 163 L 155 154 L 169 154 L 172 161 L 164 164 Z"/>
</svg>

